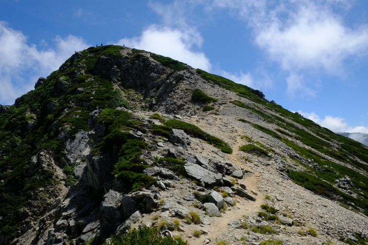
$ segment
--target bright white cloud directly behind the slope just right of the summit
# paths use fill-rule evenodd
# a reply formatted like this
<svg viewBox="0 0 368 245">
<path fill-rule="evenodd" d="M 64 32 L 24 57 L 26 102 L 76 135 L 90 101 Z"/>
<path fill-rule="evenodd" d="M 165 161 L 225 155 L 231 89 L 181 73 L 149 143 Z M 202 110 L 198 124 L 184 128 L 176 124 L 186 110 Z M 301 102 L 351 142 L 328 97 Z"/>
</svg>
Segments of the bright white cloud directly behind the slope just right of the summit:
<svg viewBox="0 0 368 245">
<path fill-rule="evenodd" d="M 194 68 L 211 70 L 210 60 L 203 52 L 192 51 L 194 46 L 201 47 L 203 38 L 195 29 L 172 29 L 151 25 L 143 30 L 142 35 L 133 38 L 120 39 L 118 45 L 126 45 L 144 49 L 164 56 L 177 59 Z"/>
</svg>

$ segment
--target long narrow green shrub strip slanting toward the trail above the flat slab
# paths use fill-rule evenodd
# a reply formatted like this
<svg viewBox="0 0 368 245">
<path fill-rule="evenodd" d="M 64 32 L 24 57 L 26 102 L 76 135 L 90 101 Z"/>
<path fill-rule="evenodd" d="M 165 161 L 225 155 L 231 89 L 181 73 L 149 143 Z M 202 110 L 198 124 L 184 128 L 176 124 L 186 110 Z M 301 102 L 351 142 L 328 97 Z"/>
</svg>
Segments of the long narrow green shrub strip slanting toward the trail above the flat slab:
<svg viewBox="0 0 368 245">
<path fill-rule="evenodd" d="M 186 123 L 185 121 L 175 120 L 175 119 L 169 119 L 164 123 L 165 126 L 171 127 L 173 129 L 180 129 L 186 132 L 188 135 L 192 137 L 196 137 L 199 139 L 202 139 L 206 141 L 208 144 L 211 144 L 218 149 L 220 149 L 224 153 L 231 154 L 232 149 L 229 147 L 227 143 L 222 141 L 221 139 L 214 137 L 204 131 L 202 131 L 197 126 L 194 126 L 193 124 Z"/>
</svg>

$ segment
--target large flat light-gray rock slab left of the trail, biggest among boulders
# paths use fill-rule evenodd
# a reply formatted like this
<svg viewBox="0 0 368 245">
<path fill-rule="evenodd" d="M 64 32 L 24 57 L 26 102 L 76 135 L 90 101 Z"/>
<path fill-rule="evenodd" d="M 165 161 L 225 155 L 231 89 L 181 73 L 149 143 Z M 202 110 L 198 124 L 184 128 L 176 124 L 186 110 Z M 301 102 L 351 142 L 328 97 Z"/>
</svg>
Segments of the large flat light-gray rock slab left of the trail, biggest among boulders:
<svg viewBox="0 0 368 245">
<path fill-rule="evenodd" d="M 198 164 L 187 163 L 184 167 L 190 177 L 195 178 L 208 186 L 219 185 L 222 179 L 221 176 L 199 166 Z"/>
</svg>

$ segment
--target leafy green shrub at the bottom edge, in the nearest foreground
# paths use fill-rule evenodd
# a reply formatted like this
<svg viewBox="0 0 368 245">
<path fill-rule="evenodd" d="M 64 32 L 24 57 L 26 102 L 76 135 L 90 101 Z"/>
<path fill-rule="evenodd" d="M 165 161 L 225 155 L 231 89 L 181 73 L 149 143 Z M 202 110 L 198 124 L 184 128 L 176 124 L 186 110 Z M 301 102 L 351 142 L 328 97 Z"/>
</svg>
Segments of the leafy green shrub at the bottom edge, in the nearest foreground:
<svg viewBox="0 0 368 245">
<path fill-rule="evenodd" d="M 107 244 L 107 243 L 105 243 Z M 175 239 L 170 236 L 161 237 L 156 227 L 147 228 L 139 226 L 138 229 L 131 229 L 127 233 L 120 233 L 117 237 L 111 236 L 111 245 L 188 245 L 180 237 Z"/>
</svg>

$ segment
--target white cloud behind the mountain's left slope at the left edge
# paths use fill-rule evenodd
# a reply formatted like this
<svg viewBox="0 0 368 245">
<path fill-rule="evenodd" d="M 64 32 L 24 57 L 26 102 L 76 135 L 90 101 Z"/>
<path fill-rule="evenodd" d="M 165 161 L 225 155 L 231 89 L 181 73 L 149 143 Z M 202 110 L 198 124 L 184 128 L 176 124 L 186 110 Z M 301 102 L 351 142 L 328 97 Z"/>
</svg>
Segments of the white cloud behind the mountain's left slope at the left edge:
<svg viewBox="0 0 368 245">
<path fill-rule="evenodd" d="M 76 36 L 57 36 L 53 49 L 39 50 L 27 44 L 27 37 L 0 21 L 0 103 L 13 104 L 15 99 L 33 89 L 37 79 L 57 70 L 74 51 L 89 45 Z"/>
</svg>

